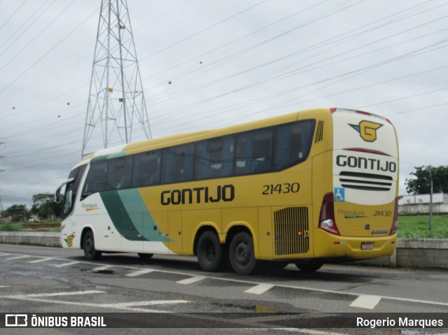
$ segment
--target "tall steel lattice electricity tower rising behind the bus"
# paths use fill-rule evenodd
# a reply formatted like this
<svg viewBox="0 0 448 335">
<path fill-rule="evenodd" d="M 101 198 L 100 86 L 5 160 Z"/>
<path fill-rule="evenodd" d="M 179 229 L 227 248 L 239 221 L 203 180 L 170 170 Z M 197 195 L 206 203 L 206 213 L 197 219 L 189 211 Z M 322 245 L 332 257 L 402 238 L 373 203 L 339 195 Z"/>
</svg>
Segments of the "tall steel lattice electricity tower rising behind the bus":
<svg viewBox="0 0 448 335">
<path fill-rule="evenodd" d="M 133 131 L 151 138 L 127 1 L 102 0 L 81 155 L 100 134 L 108 148 L 130 143 Z"/>
</svg>

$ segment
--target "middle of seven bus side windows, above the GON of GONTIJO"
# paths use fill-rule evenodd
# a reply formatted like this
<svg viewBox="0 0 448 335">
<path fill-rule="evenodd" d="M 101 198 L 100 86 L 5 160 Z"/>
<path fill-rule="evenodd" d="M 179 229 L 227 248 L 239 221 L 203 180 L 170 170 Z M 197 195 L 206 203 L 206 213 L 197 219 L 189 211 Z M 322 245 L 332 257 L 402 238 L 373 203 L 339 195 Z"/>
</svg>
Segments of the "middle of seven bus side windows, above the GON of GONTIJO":
<svg viewBox="0 0 448 335">
<path fill-rule="evenodd" d="M 193 143 L 167 148 L 162 154 L 162 183 L 180 183 L 193 179 Z"/>
</svg>

